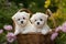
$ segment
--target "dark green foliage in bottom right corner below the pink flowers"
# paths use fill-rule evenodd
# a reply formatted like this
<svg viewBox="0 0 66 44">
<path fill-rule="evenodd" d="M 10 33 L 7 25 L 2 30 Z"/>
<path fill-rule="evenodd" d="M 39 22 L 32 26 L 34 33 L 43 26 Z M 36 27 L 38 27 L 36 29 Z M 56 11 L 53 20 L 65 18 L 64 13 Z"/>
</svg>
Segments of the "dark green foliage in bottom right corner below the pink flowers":
<svg viewBox="0 0 66 44">
<path fill-rule="evenodd" d="M 55 44 L 66 44 L 66 33 L 61 32 L 58 37 L 55 40 Z"/>
</svg>

